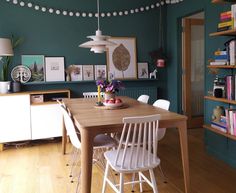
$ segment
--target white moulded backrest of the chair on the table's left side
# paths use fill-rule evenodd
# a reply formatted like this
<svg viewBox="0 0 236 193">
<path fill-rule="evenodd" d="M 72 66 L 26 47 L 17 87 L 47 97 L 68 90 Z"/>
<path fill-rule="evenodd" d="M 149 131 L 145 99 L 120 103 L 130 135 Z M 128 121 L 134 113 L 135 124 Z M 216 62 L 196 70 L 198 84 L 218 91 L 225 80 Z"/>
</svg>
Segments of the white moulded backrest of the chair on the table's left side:
<svg viewBox="0 0 236 193">
<path fill-rule="evenodd" d="M 71 113 L 68 112 L 67 108 L 64 108 L 63 105 L 61 105 L 60 108 L 63 114 L 66 131 L 67 131 L 67 134 L 69 135 L 70 141 L 74 147 L 76 147 L 77 149 L 80 149 L 81 143 L 80 143 L 78 134 L 76 133 L 75 125 L 70 116 Z"/>
</svg>

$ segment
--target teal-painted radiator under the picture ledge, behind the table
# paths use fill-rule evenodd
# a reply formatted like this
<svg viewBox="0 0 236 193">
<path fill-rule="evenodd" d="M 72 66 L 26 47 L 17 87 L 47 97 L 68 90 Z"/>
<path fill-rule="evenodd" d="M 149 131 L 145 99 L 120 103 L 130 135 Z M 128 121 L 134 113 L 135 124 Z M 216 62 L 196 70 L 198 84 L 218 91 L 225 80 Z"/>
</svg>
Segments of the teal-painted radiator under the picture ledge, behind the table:
<svg viewBox="0 0 236 193">
<path fill-rule="evenodd" d="M 134 99 L 142 94 L 149 95 L 149 104 L 152 104 L 157 100 L 157 87 L 128 87 L 118 93 L 120 96 L 128 96 Z"/>
</svg>

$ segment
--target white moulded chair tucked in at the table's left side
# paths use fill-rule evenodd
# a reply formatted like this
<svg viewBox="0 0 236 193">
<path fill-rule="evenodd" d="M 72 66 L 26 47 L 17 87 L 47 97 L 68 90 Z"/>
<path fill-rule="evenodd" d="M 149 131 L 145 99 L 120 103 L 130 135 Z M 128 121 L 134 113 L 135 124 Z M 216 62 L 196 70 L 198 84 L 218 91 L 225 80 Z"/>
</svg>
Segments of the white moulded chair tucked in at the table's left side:
<svg viewBox="0 0 236 193">
<path fill-rule="evenodd" d="M 64 103 L 61 103 L 60 107 L 61 107 L 61 111 L 62 111 L 62 114 L 64 117 L 64 123 L 65 123 L 67 134 L 69 135 L 70 141 L 71 141 L 73 147 L 75 148 L 74 153 L 72 154 L 73 159 L 74 159 L 74 161 L 73 161 L 73 165 L 74 165 L 75 161 L 79 155 L 79 150 L 81 149 L 80 137 L 78 135 L 78 132 L 76 132 L 75 125 L 73 123 L 72 117 L 70 116 L 71 113 L 69 112 L 69 110 L 67 108 L 65 108 Z M 116 140 L 114 140 L 110 136 L 105 135 L 105 134 L 97 135 L 94 138 L 93 163 L 97 163 L 99 161 L 102 165 L 104 165 L 102 163 L 102 161 L 104 160 L 103 159 L 104 151 L 102 151 L 102 149 L 113 148 L 116 145 L 117 145 Z M 95 151 L 97 151 L 96 152 L 97 154 L 95 154 Z M 73 167 L 73 165 L 72 165 L 72 167 Z M 71 174 L 72 174 L 72 172 L 71 172 Z M 79 179 L 80 179 L 80 171 L 79 171 L 76 192 L 78 192 Z"/>
</svg>

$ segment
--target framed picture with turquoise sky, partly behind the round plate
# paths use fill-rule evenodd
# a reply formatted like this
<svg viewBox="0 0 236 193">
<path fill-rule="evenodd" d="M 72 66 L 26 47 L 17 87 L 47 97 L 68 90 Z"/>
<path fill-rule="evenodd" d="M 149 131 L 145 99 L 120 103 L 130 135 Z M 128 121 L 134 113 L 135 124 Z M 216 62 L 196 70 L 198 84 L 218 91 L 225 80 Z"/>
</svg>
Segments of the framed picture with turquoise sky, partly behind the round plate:
<svg viewBox="0 0 236 193">
<path fill-rule="evenodd" d="M 21 63 L 30 69 L 30 81 L 41 82 L 45 80 L 44 55 L 22 55 Z"/>
</svg>

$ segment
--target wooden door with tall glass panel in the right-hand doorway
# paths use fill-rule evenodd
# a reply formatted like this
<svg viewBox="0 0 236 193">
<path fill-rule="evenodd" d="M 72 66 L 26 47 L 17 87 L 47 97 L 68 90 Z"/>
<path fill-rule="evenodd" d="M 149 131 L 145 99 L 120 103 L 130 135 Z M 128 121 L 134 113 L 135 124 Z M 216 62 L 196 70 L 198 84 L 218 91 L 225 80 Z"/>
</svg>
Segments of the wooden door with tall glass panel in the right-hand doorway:
<svg viewBox="0 0 236 193">
<path fill-rule="evenodd" d="M 183 19 L 182 109 L 188 128 L 202 127 L 204 101 L 204 20 Z"/>
</svg>

